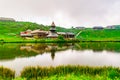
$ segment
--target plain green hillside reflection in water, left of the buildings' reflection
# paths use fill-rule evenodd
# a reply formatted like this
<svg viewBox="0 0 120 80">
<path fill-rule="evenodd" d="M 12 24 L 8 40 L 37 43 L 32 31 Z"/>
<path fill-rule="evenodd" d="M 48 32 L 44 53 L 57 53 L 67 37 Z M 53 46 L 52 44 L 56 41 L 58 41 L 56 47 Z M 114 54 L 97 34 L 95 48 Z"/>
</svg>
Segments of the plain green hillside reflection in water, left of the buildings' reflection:
<svg viewBox="0 0 120 80">
<path fill-rule="evenodd" d="M 0 60 L 14 59 L 15 57 L 35 56 L 37 53 L 20 50 L 21 44 L 2 44 L 0 45 Z"/>
</svg>

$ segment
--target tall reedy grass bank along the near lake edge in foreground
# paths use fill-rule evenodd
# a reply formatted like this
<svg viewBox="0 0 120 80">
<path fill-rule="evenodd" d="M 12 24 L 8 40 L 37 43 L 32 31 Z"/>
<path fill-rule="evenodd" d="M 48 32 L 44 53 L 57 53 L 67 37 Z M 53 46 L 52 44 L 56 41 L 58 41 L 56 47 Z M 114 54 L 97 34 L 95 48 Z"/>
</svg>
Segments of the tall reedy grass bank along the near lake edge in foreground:
<svg viewBox="0 0 120 80">
<path fill-rule="evenodd" d="M 14 71 L 0 67 L 1 80 L 120 80 L 120 68 L 70 65 L 26 67 L 21 76 L 14 76 Z"/>
</svg>

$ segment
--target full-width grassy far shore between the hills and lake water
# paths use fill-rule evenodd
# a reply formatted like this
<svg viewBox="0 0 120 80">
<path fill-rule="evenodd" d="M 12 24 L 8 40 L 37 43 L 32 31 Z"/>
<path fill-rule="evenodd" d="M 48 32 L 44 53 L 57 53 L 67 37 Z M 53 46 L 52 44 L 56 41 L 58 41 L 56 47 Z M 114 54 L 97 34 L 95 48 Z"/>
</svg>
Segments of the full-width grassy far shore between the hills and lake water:
<svg viewBox="0 0 120 80">
<path fill-rule="evenodd" d="M 81 40 L 81 39 L 1 39 L 0 43 L 76 43 L 76 42 L 120 42 L 120 40 L 109 40 L 109 39 L 101 39 L 101 40 Z"/>
</svg>

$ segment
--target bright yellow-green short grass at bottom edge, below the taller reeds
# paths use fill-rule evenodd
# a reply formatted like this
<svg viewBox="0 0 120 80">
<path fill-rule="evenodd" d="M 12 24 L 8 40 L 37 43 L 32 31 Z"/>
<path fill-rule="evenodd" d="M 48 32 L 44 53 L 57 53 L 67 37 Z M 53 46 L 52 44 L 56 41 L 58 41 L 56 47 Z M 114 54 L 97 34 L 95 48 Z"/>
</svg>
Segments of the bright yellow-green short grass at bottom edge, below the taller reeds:
<svg viewBox="0 0 120 80">
<path fill-rule="evenodd" d="M 16 78 L 14 80 L 27 80 L 26 78 Z M 31 78 L 29 80 L 36 80 L 34 78 Z M 38 78 L 37 80 L 120 80 L 119 78 L 111 79 L 107 76 L 88 76 L 88 75 L 75 75 L 74 73 L 66 74 L 66 75 L 54 75 L 51 77 L 44 77 L 44 78 Z"/>
</svg>

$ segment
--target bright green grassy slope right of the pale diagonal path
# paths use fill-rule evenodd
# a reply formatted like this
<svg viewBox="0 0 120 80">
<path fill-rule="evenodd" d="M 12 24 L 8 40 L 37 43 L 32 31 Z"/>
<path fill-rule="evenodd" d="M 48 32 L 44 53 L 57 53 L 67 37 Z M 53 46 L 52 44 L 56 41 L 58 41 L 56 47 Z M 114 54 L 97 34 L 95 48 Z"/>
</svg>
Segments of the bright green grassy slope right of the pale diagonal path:
<svg viewBox="0 0 120 80">
<path fill-rule="evenodd" d="M 120 41 L 120 29 L 85 29 L 76 38 L 87 41 Z"/>
</svg>

